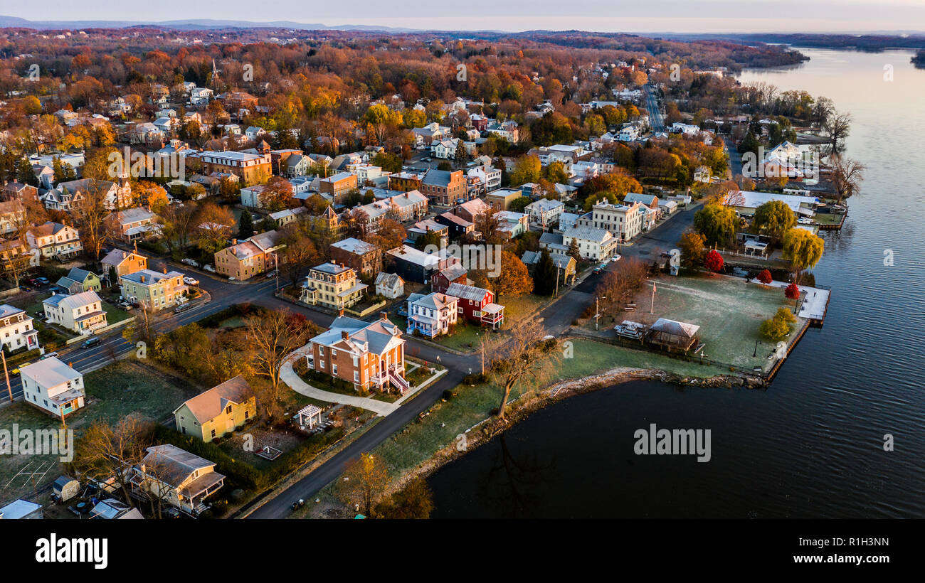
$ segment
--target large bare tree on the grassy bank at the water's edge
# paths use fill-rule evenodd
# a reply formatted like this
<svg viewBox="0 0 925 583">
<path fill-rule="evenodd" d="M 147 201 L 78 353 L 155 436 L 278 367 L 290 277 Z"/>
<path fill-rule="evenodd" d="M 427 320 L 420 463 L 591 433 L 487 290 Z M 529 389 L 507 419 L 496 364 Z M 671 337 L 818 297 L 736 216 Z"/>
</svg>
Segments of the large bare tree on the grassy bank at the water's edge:
<svg viewBox="0 0 925 583">
<path fill-rule="evenodd" d="M 544 340 L 545 334 L 542 319 L 525 318 L 516 322 L 507 334 L 497 335 L 486 346 L 487 354 L 493 355 L 491 375 L 501 387 L 499 419 L 505 419 L 505 407 L 514 385 L 528 379 L 534 383 L 545 381 L 561 358 L 558 341 L 554 338 Z"/>
</svg>

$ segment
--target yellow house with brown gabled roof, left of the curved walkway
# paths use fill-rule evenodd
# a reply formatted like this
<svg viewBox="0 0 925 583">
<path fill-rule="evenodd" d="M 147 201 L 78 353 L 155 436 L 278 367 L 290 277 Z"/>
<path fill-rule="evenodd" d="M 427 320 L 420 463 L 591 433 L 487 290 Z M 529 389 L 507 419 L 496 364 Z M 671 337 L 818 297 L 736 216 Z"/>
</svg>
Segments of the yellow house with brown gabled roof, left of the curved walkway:
<svg viewBox="0 0 925 583">
<path fill-rule="evenodd" d="M 238 375 L 177 407 L 174 419 L 180 433 L 211 442 L 234 431 L 256 414 L 257 405 L 251 385 Z"/>
</svg>

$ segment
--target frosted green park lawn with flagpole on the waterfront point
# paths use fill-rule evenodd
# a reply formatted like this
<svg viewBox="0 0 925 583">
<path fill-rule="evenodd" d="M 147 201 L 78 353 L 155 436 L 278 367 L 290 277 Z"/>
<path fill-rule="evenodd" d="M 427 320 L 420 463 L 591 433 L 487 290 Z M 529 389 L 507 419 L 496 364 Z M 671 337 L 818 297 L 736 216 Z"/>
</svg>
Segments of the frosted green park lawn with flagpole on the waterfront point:
<svg viewBox="0 0 925 583">
<path fill-rule="evenodd" d="M 645 324 L 659 318 L 690 322 L 700 326 L 704 356 L 744 369 L 771 367 L 774 345 L 759 334 L 762 321 L 771 318 L 778 308 L 792 305 L 780 289 L 746 284 L 745 280 L 721 275 L 693 277 L 661 276 L 657 281 L 654 313 L 648 313 L 651 285 L 636 298 L 637 310 L 618 312 L 601 318 L 600 328 L 612 328 L 613 322 L 632 320 Z M 802 326 L 799 320 L 795 329 Z M 594 322 L 586 323 L 593 329 Z M 758 356 L 753 357 L 756 342 Z"/>
</svg>

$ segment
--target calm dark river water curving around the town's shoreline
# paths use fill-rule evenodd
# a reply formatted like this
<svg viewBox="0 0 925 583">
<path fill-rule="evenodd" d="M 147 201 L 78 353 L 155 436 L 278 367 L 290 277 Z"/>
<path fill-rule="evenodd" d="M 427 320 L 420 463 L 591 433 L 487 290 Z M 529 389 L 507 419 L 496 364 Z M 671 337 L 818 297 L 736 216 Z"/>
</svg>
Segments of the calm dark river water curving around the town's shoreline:
<svg viewBox="0 0 925 583">
<path fill-rule="evenodd" d="M 905 51 L 803 52 L 740 79 L 854 116 L 847 154 L 868 170 L 845 228 L 824 235 L 825 327 L 766 391 L 628 383 L 540 411 L 431 477 L 435 517 L 925 516 L 925 70 Z M 711 430 L 712 460 L 634 455 L 649 423 Z"/>
</svg>

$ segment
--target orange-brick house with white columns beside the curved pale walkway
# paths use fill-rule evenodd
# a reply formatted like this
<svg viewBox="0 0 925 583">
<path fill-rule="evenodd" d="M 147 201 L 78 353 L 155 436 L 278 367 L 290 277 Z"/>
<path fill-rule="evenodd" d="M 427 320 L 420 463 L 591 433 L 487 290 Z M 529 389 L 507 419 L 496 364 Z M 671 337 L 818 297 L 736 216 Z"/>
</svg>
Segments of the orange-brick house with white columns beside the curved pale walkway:
<svg viewBox="0 0 925 583">
<path fill-rule="evenodd" d="M 323 372 L 357 390 L 394 386 L 404 393 L 410 384 L 404 379 L 404 345 L 401 328 L 382 312 L 376 322 L 345 317 L 343 312 L 331 327 L 310 341 L 309 370 Z"/>
</svg>

